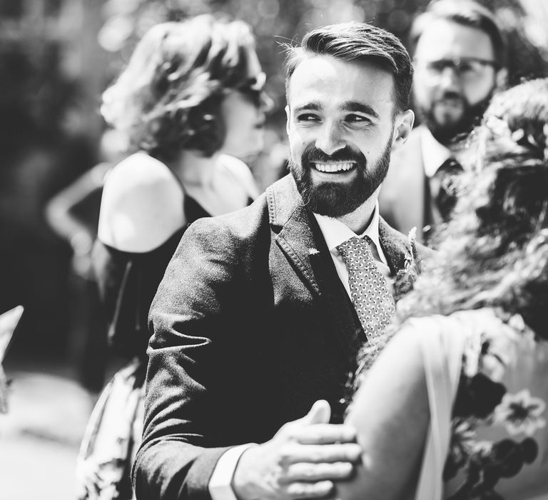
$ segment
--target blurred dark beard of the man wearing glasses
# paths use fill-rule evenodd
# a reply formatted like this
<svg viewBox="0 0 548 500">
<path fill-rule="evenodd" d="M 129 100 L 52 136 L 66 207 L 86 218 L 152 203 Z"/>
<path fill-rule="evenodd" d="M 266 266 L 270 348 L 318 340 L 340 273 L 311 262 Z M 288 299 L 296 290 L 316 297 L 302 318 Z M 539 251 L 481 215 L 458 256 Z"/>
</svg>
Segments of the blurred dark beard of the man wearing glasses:
<svg viewBox="0 0 548 500">
<path fill-rule="evenodd" d="M 480 123 L 484 111 L 487 109 L 487 106 L 489 106 L 492 94 L 493 91 L 489 92 L 487 97 L 473 105 L 460 94 L 449 92 L 442 96 L 442 99 L 459 99 L 462 102 L 463 109 L 460 119 L 450 123 L 440 124 L 435 117 L 434 108 L 437 101 L 433 101 L 428 107 L 417 105 L 418 115 L 420 117 L 420 121 L 426 124 L 428 130 L 430 130 L 432 136 L 434 136 L 440 144 L 448 146 L 464 139 L 465 136 L 470 134 L 472 129 Z"/>
</svg>

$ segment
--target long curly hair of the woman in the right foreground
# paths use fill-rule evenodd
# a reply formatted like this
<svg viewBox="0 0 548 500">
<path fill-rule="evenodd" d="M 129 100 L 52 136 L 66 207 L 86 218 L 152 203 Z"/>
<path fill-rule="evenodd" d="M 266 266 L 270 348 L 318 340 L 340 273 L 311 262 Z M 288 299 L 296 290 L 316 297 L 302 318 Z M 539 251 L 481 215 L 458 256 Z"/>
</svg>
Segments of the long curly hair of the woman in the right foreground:
<svg viewBox="0 0 548 500">
<path fill-rule="evenodd" d="M 497 96 L 475 131 L 439 253 L 400 301 L 400 319 L 499 306 L 548 338 L 548 79 Z"/>
</svg>

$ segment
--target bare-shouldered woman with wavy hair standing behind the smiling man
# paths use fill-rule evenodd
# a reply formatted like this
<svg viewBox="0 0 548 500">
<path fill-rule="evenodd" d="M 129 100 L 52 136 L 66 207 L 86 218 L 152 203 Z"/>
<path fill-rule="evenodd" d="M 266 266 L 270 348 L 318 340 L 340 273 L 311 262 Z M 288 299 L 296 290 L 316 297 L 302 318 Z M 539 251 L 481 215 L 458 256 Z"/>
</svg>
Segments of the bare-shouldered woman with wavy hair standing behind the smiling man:
<svg viewBox="0 0 548 500">
<path fill-rule="evenodd" d="M 103 94 L 131 156 L 108 172 L 93 266 L 117 354 L 132 359 L 96 404 L 78 457 L 81 499 L 131 499 L 141 439 L 148 309 L 188 224 L 250 204 L 240 159 L 262 148 L 264 73 L 242 21 L 158 24 Z"/>
</svg>

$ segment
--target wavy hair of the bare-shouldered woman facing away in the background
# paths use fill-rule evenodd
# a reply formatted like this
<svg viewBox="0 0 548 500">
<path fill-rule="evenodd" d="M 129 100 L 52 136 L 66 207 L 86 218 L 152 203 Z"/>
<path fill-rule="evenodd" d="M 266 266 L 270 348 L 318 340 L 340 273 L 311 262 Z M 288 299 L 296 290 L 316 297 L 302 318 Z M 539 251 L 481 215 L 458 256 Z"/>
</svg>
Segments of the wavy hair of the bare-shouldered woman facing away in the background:
<svg viewBox="0 0 548 500">
<path fill-rule="evenodd" d="M 130 149 L 161 160 L 181 149 L 211 156 L 225 139 L 220 104 L 250 82 L 255 41 L 243 21 L 208 14 L 153 26 L 103 93 L 101 114 Z"/>
</svg>

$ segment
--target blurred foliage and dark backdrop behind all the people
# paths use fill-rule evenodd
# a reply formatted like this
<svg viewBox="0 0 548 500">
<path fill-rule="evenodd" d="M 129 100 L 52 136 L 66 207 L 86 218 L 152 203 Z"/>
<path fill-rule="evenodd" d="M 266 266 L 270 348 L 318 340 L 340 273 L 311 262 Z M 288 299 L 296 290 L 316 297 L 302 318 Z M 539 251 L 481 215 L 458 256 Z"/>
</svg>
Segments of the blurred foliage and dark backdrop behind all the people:
<svg viewBox="0 0 548 500">
<path fill-rule="evenodd" d="M 548 2 L 480 2 L 497 13 L 509 32 L 511 83 L 546 76 Z M 315 26 L 357 20 L 382 26 L 407 43 L 412 17 L 427 3 L 0 0 L 0 311 L 26 306 L 13 355 L 71 359 L 89 316 L 96 314 L 78 299 L 81 286 L 71 271 L 71 246 L 47 226 L 44 205 L 103 159 L 101 91 L 150 26 L 205 12 L 253 26 L 267 91 L 275 101 L 267 148 L 252 165 L 264 187 L 280 173 L 285 154 L 283 54 L 278 42 L 300 39 Z"/>
</svg>

